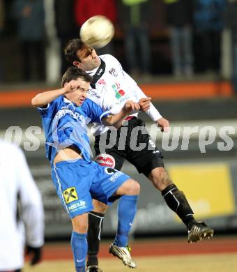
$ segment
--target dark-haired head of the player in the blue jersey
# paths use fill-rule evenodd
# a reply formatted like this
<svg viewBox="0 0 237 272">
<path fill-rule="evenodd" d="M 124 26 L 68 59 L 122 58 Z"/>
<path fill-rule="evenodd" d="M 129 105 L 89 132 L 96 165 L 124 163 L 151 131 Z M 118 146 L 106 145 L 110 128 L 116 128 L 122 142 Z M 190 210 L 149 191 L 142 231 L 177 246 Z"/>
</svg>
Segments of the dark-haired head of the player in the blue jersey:
<svg viewBox="0 0 237 272">
<path fill-rule="evenodd" d="M 87 91 L 89 90 L 92 77 L 86 74 L 84 70 L 72 66 L 66 70 L 66 73 L 64 73 L 61 86 L 66 86 L 72 80 L 75 81 L 74 83 L 77 85 L 77 89 L 76 91 L 66 93 L 65 97 L 76 105 L 80 106 L 82 103 L 84 103 L 84 100 L 86 100 Z"/>
</svg>

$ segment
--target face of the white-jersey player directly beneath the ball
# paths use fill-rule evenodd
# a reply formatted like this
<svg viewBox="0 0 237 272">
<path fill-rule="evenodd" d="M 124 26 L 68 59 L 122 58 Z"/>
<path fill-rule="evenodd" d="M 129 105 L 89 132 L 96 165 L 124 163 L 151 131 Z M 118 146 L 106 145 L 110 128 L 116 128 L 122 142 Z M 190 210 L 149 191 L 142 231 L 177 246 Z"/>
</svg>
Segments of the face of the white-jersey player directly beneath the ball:
<svg viewBox="0 0 237 272">
<path fill-rule="evenodd" d="M 92 47 L 88 47 L 84 50 L 78 50 L 77 56 L 81 62 L 74 61 L 73 65 L 81 68 L 82 70 L 91 71 L 100 66 L 100 58 Z"/>
</svg>

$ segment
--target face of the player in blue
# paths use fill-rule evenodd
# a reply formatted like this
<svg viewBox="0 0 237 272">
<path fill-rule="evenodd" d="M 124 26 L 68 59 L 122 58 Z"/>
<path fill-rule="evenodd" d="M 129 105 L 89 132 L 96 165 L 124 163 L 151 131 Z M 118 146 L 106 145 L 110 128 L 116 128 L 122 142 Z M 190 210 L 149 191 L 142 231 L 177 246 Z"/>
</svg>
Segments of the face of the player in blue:
<svg viewBox="0 0 237 272">
<path fill-rule="evenodd" d="M 89 82 L 85 82 L 81 78 L 78 78 L 75 81 L 77 82 L 76 90 L 70 93 L 66 93 L 65 97 L 75 103 L 77 106 L 82 106 L 82 104 L 86 100 L 90 84 Z"/>
</svg>

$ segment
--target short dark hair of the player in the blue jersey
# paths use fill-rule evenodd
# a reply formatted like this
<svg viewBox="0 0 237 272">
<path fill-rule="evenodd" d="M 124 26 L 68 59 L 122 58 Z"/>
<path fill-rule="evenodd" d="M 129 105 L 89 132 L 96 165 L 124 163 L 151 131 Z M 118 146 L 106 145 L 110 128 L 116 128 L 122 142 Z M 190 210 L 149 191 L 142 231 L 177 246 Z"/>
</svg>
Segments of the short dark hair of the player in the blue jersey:
<svg viewBox="0 0 237 272">
<path fill-rule="evenodd" d="M 70 82 L 71 80 L 77 80 L 78 78 L 81 78 L 85 82 L 92 82 L 92 77 L 86 72 L 78 67 L 71 66 L 66 70 L 66 73 L 64 73 L 61 81 L 61 86 L 63 87 L 66 82 Z"/>
</svg>

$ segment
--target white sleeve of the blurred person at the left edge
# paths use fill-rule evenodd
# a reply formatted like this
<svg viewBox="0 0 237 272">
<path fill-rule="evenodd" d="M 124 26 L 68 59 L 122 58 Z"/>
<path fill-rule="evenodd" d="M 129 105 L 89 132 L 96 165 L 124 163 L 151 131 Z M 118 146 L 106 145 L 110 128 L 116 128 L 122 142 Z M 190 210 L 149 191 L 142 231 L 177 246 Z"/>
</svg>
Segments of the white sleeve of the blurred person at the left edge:
<svg viewBox="0 0 237 272">
<path fill-rule="evenodd" d="M 22 220 L 26 228 L 26 243 L 32 247 L 40 247 L 44 243 L 45 229 L 43 201 L 21 149 L 18 149 L 15 159 L 17 159 L 17 178 Z"/>
</svg>

